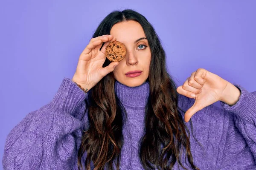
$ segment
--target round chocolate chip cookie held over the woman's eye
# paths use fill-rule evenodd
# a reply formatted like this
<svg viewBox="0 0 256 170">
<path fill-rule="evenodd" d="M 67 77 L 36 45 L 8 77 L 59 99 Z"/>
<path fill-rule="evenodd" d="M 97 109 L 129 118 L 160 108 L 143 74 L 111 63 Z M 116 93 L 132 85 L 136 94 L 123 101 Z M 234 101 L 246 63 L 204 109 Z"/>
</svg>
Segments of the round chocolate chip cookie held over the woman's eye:
<svg viewBox="0 0 256 170">
<path fill-rule="evenodd" d="M 122 42 L 113 41 L 109 42 L 106 47 L 106 57 L 111 61 L 121 61 L 125 58 L 126 48 Z"/>
</svg>

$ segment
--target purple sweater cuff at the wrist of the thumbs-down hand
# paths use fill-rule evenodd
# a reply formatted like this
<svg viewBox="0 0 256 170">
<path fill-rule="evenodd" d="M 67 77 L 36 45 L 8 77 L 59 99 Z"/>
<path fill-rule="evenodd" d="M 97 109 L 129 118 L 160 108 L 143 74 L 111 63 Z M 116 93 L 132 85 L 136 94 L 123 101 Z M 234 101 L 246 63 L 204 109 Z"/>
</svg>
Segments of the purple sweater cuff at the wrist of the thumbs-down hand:
<svg viewBox="0 0 256 170">
<path fill-rule="evenodd" d="M 233 84 L 241 91 L 241 96 L 235 105 L 230 106 L 224 102 L 220 102 L 221 107 L 240 117 L 244 122 L 256 122 L 256 95 L 248 92 L 241 85 Z"/>
</svg>

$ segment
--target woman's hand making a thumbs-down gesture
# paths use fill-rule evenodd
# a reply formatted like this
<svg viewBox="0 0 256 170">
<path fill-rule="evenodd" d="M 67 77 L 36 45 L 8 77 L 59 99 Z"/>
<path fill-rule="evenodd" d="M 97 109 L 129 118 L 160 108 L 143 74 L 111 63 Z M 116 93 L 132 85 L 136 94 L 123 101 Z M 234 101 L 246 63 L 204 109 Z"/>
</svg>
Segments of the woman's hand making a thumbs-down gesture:
<svg viewBox="0 0 256 170">
<path fill-rule="evenodd" d="M 185 122 L 189 122 L 196 112 L 219 100 L 234 105 L 241 95 L 239 88 L 204 68 L 193 72 L 184 84 L 177 88 L 177 92 L 195 99 L 194 105 L 185 113 Z M 191 96 L 192 94 L 195 94 L 195 97 Z"/>
</svg>

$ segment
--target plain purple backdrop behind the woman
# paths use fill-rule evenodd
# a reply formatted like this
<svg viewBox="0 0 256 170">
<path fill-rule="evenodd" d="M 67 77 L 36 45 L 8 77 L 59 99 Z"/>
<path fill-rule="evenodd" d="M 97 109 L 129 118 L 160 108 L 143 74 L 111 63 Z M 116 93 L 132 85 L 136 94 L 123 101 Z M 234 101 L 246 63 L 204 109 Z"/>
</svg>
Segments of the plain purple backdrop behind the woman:
<svg viewBox="0 0 256 170">
<path fill-rule="evenodd" d="M 1 164 L 7 134 L 50 102 L 64 77 L 73 77 L 81 51 L 111 11 L 132 8 L 153 24 L 177 85 L 205 68 L 252 92 L 255 7 L 254 0 L 0 1 Z"/>
</svg>

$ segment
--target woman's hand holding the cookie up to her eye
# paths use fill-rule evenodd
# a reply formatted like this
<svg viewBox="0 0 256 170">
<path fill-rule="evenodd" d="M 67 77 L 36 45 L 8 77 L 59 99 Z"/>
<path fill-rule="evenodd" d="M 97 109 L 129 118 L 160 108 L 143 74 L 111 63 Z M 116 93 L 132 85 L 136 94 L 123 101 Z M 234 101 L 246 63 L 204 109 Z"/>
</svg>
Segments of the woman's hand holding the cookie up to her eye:
<svg viewBox="0 0 256 170">
<path fill-rule="evenodd" d="M 114 38 L 113 35 L 102 35 L 100 37 L 92 38 L 79 57 L 76 72 L 72 81 L 89 91 L 103 77 L 113 71 L 114 66 L 118 65 L 119 62 L 111 62 L 107 67 L 102 67 L 106 59 L 105 48 L 109 42 L 113 41 L 116 41 L 116 38 Z M 106 43 L 102 49 L 99 50 L 103 42 Z"/>
</svg>

